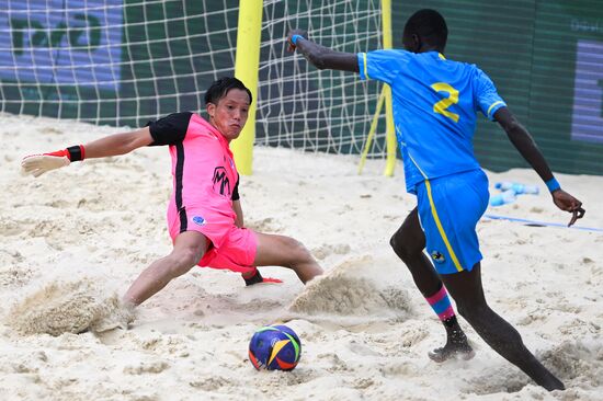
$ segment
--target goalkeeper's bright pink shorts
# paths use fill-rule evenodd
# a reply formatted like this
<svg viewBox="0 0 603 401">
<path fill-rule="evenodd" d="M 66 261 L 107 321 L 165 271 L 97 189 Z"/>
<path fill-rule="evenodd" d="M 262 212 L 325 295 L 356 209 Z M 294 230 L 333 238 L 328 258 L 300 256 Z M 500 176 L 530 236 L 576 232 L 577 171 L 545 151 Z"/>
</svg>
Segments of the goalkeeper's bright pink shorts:
<svg viewBox="0 0 603 401">
<path fill-rule="evenodd" d="M 198 224 L 195 210 L 186 210 L 187 225 L 185 231 L 197 231 L 204 234 L 212 244 L 201 261 L 197 263 L 202 267 L 228 268 L 232 272 L 247 273 L 252 272 L 255 266 L 255 252 L 258 250 L 258 237 L 253 230 L 238 228 L 230 221 L 228 224 Z M 170 214 L 168 214 L 170 215 Z M 181 232 L 181 222 L 177 219 L 170 219 L 169 229 L 172 241 Z M 193 220 L 195 219 L 195 220 Z M 197 221 L 197 224 L 195 224 Z"/>
</svg>

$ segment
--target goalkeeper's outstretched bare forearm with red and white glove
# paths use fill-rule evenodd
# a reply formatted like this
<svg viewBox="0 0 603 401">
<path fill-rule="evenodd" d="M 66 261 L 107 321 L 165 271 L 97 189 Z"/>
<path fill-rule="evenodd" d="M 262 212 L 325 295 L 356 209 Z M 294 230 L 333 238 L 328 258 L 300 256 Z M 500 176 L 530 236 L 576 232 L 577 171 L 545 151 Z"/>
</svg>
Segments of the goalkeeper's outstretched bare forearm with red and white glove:
<svg viewBox="0 0 603 401">
<path fill-rule="evenodd" d="M 86 145 L 71 146 L 48 153 L 31 154 L 21 161 L 23 174 L 39 176 L 50 170 L 69 165 L 72 161 L 125 154 L 152 144 L 148 127 L 130 133 L 110 135 Z"/>
</svg>

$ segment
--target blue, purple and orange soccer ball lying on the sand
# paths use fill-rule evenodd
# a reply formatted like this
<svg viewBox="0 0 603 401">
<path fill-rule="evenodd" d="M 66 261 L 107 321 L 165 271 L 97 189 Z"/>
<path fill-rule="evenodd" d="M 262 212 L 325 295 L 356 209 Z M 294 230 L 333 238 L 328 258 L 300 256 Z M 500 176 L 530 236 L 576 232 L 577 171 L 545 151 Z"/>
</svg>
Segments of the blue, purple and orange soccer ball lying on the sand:
<svg viewBox="0 0 603 401">
<path fill-rule="evenodd" d="M 300 355 L 302 342 L 286 325 L 260 328 L 249 342 L 249 360 L 258 370 L 293 370 Z"/>
</svg>

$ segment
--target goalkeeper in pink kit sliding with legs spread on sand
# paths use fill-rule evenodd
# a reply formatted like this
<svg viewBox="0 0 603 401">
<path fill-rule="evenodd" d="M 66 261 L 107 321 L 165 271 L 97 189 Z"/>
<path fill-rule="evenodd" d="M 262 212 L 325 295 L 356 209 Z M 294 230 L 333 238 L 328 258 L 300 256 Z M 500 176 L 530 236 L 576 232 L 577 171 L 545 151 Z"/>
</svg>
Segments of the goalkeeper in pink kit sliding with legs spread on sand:
<svg viewBox="0 0 603 401">
<path fill-rule="evenodd" d="M 292 268 L 303 283 L 322 273 L 295 239 L 244 228 L 239 174 L 229 144 L 241 133 L 251 101 L 251 92 L 241 81 L 221 78 L 205 94 L 208 121 L 190 112 L 174 113 L 138 130 L 23 159 L 23 172 L 39 176 L 84 158 L 125 154 L 145 146 L 169 146 L 173 191 L 168 226 L 173 250 L 136 278 L 124 295 L 126 306 L 140 305 L 197 264 L 241 273 L 247 285 L 280 283 L 262 277 L 257 266 Z"/>
</svg>

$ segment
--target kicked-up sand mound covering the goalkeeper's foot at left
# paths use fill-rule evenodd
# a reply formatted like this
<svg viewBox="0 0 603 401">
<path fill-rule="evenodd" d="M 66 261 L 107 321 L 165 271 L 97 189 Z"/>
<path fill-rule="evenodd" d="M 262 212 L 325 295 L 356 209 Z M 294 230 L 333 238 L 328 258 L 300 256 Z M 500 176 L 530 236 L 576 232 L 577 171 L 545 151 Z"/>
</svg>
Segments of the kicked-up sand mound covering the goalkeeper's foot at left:
<svg viewBox="0 0 603 401">
<path fill-rule="evenodd" d="M 22 334 L 60 335 L 115 329 L 130 320 L 126 314 L 116 293 L 84 278 L 48 284 L 14 306 L 8 321 Z"/>
</svg>

